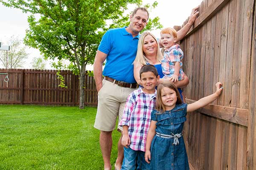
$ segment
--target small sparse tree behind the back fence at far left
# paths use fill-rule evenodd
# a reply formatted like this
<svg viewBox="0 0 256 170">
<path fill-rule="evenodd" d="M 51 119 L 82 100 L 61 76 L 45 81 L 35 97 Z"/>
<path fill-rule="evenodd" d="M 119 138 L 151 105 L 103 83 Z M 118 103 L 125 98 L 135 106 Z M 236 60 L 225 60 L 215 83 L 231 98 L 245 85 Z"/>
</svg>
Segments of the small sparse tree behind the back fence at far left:
<svg viewBox="0 0 256 170">
<path fill-rule="evenodd" d="M 10 46 L 10 51 L 0 51 L 0 61 L 5 68 L 15 69 L 22 68 L 24 60 L 28 58 L 25 47 L 22 46 L 22 40 L 19 37 L 12 36 L 7 44 Z M 7 56 L 7 60 L 6 60 Z"/>
</svg>

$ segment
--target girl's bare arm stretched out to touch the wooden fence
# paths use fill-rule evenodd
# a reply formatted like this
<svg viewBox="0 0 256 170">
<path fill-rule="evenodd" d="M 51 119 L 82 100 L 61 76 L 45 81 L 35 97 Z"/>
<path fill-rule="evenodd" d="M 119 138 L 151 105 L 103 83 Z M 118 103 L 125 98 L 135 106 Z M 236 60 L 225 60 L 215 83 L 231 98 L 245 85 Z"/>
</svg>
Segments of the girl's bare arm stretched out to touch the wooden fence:
<svg viewBox="0 0 256 170">
<path fill-rule="evenodd" d="M 212 95 L 208 95 L 204 98 L 199 99 L 198 101 L 189 104 L 187 107 L 187 112 L 193 112 L 196 109 L 199 109 L 201 107 L 206 106 L 207 104 L 211 103 L 212 101 L 214 101 L 216 98 L 218 98 L 218 96 L 221 94 L 221 91 L 223 90 L 223 87 L 221 82 L 218 82 L 215 84 L 216 86 L 216 92 L 213 93 Z"/>
</svg>

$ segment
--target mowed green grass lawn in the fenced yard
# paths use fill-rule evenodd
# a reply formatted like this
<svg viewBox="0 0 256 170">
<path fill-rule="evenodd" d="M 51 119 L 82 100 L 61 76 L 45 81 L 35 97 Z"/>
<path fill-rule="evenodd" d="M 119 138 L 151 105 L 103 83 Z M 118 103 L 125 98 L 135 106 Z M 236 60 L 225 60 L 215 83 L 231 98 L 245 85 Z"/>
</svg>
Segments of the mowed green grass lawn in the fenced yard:
<svg viewBox="0 0 256 170">
<path fill-rule="evenodd" d="M 0 105 L 0 170 L 103 170 L 95 115 L 94 107 Z"/>
</svg>

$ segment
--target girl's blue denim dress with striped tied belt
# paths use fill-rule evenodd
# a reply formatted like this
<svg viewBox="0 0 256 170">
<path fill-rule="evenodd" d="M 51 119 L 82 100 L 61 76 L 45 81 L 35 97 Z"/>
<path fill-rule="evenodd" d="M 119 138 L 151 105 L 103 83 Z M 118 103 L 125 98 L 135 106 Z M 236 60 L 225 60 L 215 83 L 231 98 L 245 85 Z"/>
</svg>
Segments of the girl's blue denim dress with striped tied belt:
<svg viewBox="0 0 256 170">
<path fill-rule="evenodd" d="M 187 104 L 178 104 L 172 110 L 160 113 L 151 112 L 151 120 L 157 121 L 156 132 L 172 135 L 182 133 L 186 121 Z M 151 170 L 189 170 L 189 162 L 183 136 L 177 138 L 179 144 L 174 144 L 174 138 L 154 136 L 151 143 Z"/>
</svg>

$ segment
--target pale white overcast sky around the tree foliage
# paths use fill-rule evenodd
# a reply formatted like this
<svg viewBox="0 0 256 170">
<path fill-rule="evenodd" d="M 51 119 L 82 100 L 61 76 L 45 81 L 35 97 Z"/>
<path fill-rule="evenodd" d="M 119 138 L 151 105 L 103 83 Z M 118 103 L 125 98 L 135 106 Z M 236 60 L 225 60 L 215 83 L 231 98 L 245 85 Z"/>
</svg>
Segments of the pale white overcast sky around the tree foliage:
<svg viewBox="0 0 256 170">
<path fill-rule="evenodd" d="M 152 4 L 155 0 L 143 0 L 143 3 Z M 192 9 L 200 5 L 202 0 L 157 0 L 158 6 L 149 13 L 150 17 L 160 17 L 160 23 L 163 27 L 181 26 L 183 22 L 190 16 Z M 129 12 L 133 11 L 134 6 L 129 6 Z M 27 17 L 20 9 L 8 8 L 0 4 L 0 42 L 2 45 L 8 45 L 6 41 L 14 36 L 23 39 L 26 29 L 29 28 Z M 160 30 L 151 31 L 157 38 L 160 37 Z M 31 68 L 31 61 L 34 57 L 41 56 L 38 49 L 27 48 L 26 52 L 29 57 L 26 60 L 26 68 Z M 47 69 L 52 69 L 50 61 L 47 62 Z M 0 68 L 3 66 L 0 64 Z M 87 66 L 88 70 L 92 66 Z"/>
</svg>

